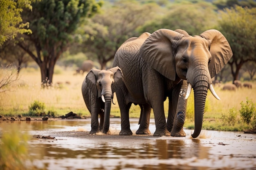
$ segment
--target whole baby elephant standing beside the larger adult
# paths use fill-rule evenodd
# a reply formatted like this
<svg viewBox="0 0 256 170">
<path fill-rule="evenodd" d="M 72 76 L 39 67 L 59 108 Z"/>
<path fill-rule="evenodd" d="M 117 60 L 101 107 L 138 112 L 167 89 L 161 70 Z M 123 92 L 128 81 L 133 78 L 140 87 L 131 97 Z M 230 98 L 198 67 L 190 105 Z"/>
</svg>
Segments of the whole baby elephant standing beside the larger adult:
<svg viewBox="0 0 256 170">
<path fill-rule="evenodd" d="M 91 113 L 90 134 L 102 132 L 110 135 L 109 121 L 113 93 L 123 80 L 121 69 L 117 66 L 108 70 L 92 68 L 82 84 L 82 94 L 86 107 Z M 100 115 L 100 123 L 98 120 Z"/>
</svg>

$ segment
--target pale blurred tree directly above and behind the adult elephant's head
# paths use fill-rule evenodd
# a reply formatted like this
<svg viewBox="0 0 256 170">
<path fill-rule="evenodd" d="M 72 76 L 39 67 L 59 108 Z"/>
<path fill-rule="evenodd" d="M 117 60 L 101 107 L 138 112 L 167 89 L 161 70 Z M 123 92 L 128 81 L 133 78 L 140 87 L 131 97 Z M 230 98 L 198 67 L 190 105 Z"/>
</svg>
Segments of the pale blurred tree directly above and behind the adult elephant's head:
<svg viewBox="0 0 256 170">
<path fill-rule="evenodd" d="M 168 11 L 162 18 L 143 26 L 141 32 L 153 32 L 165 28 L 183 29 L 189 35 L 198 35 L 207 29 L 213 29 L 218 23 L 215 8 L 209 2 L 175 1 Z"/>
</svg>

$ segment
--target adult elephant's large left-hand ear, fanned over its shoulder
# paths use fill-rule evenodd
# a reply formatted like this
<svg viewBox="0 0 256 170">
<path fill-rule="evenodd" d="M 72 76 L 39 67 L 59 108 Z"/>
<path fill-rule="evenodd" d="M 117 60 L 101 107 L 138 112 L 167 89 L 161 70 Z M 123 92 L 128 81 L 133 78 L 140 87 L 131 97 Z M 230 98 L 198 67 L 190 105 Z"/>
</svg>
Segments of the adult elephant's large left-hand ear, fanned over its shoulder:
<svg viewBox="0 0 256 170">
<path fill-rule="evenodd" d="M 140 48 L 141 57 L 156 71 L 175 80 L 175 62 L 173 58 L 173 42 L 184 37 L 176 31 L 159 29 L 152 33 Z"/>
</svg>

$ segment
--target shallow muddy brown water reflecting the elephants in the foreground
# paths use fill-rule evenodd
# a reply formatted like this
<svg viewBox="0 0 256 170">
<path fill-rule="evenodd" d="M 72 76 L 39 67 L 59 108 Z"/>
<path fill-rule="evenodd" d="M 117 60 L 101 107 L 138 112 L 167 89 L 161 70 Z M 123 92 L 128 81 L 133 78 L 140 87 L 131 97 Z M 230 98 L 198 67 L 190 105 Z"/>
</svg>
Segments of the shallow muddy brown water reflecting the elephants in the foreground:
<svg viewBox="0 0 256 170">
<path fill-rule="evenodd" d="M 130 119 L 133 134 L 137 122 Z M 192 139 L 185 129 L 186 137 L 154 137 L 153 119 L 146 136 L 119 136 L 119 118 L 110 119 L 111 135 L 89 135 L 90 119 L 19 124 L 29 126 L 34 166 L 47 170 L 256 170 L 256 135 L 242 132 L 202 131 Z"/>
</svg>

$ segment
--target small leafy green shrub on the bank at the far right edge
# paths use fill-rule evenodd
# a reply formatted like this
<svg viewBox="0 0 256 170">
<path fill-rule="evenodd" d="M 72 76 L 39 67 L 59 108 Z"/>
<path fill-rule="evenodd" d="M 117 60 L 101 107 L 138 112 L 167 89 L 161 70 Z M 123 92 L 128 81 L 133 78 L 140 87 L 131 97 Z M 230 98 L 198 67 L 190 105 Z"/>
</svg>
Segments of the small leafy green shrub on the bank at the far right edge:
<svg viewBox="0 0 256 170">
<path fill-rule="evenodd" d="M 242 101 L 240 105 L 240 116 L 242 117 L 245 123 L 249 124 L 251 122 L 253 115 L 255 115 L 255 104 L 252 102 L 252 99 L 249 100 L 248 97 L 246 97 L 246 103 L 243 103 Z"/>
</svg>

